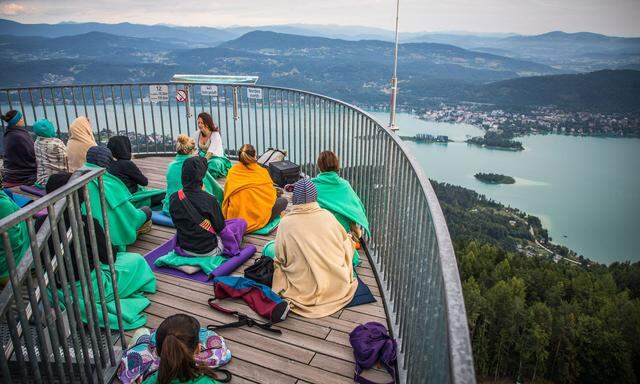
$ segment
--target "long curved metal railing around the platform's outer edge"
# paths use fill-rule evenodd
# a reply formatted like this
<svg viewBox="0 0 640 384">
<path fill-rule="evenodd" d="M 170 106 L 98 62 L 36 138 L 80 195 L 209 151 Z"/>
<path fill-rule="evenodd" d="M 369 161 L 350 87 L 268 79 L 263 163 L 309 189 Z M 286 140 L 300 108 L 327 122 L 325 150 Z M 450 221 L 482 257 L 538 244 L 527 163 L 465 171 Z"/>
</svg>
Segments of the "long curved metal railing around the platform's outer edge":
<svg viewBox="0 0 640 384">
<path fill-rule="evenodd" d="M 176 100 L 179 90 L 188 91 L 187 102 Z M 398 340 L 400 381 L 475 382 L 460 277 L 438 198 L 402 141 L 365 111 L 294 89 L 176 83 L 0 89 L 0 107 L 21 109 L 27 125 L 47 117 L 62 137 L 85 115 L 99 142 L 126 134 L 138 155 L 173 153 L 177 135 L 193 133 L 202 111 L 220 126 L 230 155 L 245 142 L 258 152 L 285 149 L 312 176 L 319 152 L 335 151 L 367 208 L 367 245 Z"/>
</svg>

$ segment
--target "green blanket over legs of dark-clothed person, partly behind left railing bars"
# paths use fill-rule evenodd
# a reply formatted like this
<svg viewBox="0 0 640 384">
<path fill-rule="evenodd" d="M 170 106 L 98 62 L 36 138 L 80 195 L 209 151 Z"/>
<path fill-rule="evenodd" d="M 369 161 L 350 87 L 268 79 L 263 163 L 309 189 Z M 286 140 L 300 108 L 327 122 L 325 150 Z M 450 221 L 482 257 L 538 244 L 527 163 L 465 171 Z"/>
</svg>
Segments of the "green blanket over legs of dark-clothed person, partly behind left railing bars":
<svg viewBox="0 0 640 384">
<path fill-rule="evenodd" d="M 137 329 L 144 326 L 147 317 L 144 314 L 145 308 L 150 304 L 144 293 L 156 292 L 156 277 L 153 275 L 149 264 L 144 257 L 137 253 L 120 252 L 114 264 L 116 271 L 116 283 L 118 284 L 118 295 L 120 296 L 120 309 L 122 310 L 122 323 L 125 330 Z M 105 300 L 107 304 L 107 316 L 110 329 L 118 329 L 118 317 L 116 311 L 115 295 L 111 272 L 108 265 L 101 265 L 91 272 L 91 285 L 93 287 L 96 309 L 98 313 L 98 324 L 104 327 L 102 316 L 102 305 L 99 302 L 98 279 L 96 273 L 101 273 L 102 284 L 104 286 Z M 78 294 L 78 306 L 83 322 L 87 322 L 84 296 L 79 281 L 75 282 L 75 290 Z M 71 296 L 71 291 L 69 290 Z M 64 309 L 64 293 L 58 290 L 58 298 Z M 95 319 L 94 319 L 95 320 Z"/>
</svg>

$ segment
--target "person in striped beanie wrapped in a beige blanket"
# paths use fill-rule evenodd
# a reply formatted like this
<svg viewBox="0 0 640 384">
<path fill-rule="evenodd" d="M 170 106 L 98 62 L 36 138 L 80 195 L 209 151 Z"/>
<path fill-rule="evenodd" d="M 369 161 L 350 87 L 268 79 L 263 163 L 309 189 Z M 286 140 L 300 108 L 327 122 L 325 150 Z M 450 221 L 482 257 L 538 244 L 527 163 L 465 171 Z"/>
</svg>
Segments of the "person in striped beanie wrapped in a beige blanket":
<svg viewBox="0 0 640 384">
<path fill-rule="evenodd" d="M 353 245 L 331 212 L 320 208 L 309 179 L 293 185 L 293 207 L 276 235 L 272 289 L 303 317 L 329 316 L 356 293 Z"/>
</svg>

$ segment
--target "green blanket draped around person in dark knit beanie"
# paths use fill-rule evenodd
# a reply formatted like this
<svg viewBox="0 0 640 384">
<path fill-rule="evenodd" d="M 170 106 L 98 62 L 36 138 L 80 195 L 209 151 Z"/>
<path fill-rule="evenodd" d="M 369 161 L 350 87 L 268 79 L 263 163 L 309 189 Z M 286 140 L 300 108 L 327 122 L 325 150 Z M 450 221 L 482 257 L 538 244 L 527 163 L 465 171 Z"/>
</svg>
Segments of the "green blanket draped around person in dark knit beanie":
<svg viewBox="0 0 640 384">
<path fill-rule="evenodd" d="M 97 168 L 97 166 L 93 164 L 86 164 L 85 166 L 88 168 Z M 104 173 L 102 181 L 105 190 L 104 197 L 107 201 L 106 209 L 107 217 L 109 218 L 111 244 L 126 247 L 129 244 L 135 243 L 138 237 L 138 229 L 147 221 L 147 215 L 131 204 L 129 201 L 131 192 L 129 192 L 122 180 L 110 173 Z M 104 228 L 98 180 L 92 180 L 87 186 L 93 217 L 95 217 L 100 222 L 102 228 Z M 82 213 L 86 213 L 86 207 L 84 205 L 82 207 Z"/>
</svg>

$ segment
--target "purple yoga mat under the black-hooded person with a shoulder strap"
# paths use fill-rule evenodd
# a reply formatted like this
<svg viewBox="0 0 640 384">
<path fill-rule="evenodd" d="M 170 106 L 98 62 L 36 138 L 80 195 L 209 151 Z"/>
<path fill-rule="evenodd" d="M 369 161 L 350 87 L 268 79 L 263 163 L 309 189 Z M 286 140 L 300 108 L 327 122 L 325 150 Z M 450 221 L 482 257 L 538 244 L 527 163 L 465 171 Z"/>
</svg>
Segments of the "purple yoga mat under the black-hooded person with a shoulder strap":
<svg viewBox="0 0 640 384">
<path fill-rule="evenodd" d="M 166 267 L 157 267 L 155 262 L 159 257 L 162 257 L 164 255 L 166 255 L 167 253 L 173 251 L 174 249 L 176 249 L 176 236 L 173 236 L 171 239 L 167 240 L 166 243 L 162 244 L 161 246 L 159 246 L 158 248 L 154 249 L 153 251 L 147 253 L 144 258 L 147 261 L 147 264 L 149 264 L 149 266 L 151 267 L 151 270 L 153 270 L 154 272 L 158 272 L 158 273 L 163 273 L 165 275 L 171 275 L 171 276 L 175 276 L 175 277 L 179 277 L 181 279 L 189 279 L 189 280 L 195 280 L 197 282 L 203 283 L 203 284 L 207 284 L 209 282 L 209 280 L 211 279 L 212 276 L 209 276 L 207 274 L 205 274 L 202 271 L 196 272 L 192 275 L 188 274 L 188 273 L 184 273 L 179 269 L 174 269 L 174 268 L 166 268 Z M 233 272 L 236 268 L 238 268 L 240 265 L 242 265 L 242 263 L 244 263 L 244 261 L 248 260 L 251 258 L 251 256 L 256 253 L 256 247 L 253 245 L 248 245 L 244 248 L 242 248 L 240 250 L 240 254 L 238 256 L 234 256 L 230 259 L 228 259 L 224 264 L 222 264 L 220 267 L 216 268 L 213 274 L 216 274 L 216 276 L 225 276 L 222 273 L 225 271 L 229 271 L 227 272 L 227 274 Z M 243 261 L 240 261 L 243 260 Z M 235 266 L 234 266 L 235 265 Z M 232 268 L 233 266 L 233 268 Z M 223 268 L 224 269 L 221 269 Z"/>
</svg>

